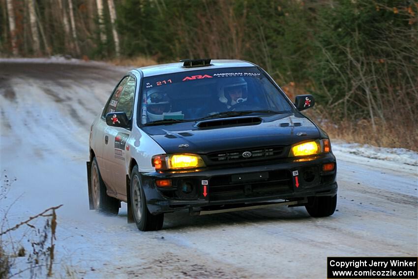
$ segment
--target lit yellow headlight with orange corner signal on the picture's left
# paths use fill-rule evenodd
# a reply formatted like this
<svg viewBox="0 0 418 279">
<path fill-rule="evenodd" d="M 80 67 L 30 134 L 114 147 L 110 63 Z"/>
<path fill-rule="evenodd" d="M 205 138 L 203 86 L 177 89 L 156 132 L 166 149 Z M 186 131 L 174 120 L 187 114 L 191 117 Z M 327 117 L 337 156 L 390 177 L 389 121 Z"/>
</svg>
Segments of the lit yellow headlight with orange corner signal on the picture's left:
<svg viewBox="0 0 418 279">
<path fill-rule="evenodd" d="M 155 155 L 151 162 L 155 170 L 191 169 L 205 166 L 203 159 L 194 154 Z"/>
</svg>

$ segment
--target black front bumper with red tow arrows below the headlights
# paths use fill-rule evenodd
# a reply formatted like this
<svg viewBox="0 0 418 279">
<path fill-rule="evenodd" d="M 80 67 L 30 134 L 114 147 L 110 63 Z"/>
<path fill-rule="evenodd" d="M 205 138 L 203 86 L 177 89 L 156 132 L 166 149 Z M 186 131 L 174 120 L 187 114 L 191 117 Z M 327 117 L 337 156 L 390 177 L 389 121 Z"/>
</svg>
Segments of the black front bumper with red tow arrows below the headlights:
<svg viewBox="0 0 418 279">
<path fill-rule="evenodd" d="M 334 169 L 324 172 L 322 165 L 331 162 L 335 163 Z M 335 176 L 335 157 L 328 153 L 257 166 L 141 173 L 141 184 L 149 212 L 159 214 L 187 208 L 333 196 L 337 193 Z M 157 187 L 157 179 L 171 179 L 173 186 Z"/>
</svg>

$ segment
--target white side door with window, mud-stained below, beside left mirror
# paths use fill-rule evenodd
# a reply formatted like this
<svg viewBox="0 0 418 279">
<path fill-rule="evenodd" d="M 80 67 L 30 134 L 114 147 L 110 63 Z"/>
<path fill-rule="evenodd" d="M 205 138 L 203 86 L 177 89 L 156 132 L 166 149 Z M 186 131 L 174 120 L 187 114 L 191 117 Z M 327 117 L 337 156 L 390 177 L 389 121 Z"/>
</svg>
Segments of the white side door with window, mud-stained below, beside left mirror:
<svg viewBox="0 0 418 279">
<path fill-rule="evenodd" d="M 124 81 L 124 80 L 123 80 Z M 122 82 L 123 82 L 122 81 Z M 121 84 L 122 84 L 121 82 Z M 118 88 L 109 102 L 109 112 L 125 112 L 132 123 L 132 112 L 135 98 L 136 79 L 129 76 L 123 87 Z M 126 142 L 130 136 L 130 128 L 122 128 L 107 125 L 104 130 L 105 144 L 104 160 L 108 170 L 109 187 L 115 190 L 117 195 L 126 192 Z"/>
</svg>

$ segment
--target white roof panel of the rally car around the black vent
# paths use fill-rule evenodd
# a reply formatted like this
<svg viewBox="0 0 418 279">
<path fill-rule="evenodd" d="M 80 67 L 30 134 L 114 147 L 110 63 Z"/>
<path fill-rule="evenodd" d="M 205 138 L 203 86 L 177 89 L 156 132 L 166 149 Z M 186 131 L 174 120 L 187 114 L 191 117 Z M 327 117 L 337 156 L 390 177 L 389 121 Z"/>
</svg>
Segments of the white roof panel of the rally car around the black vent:
<svg viewBox="0 0 418 279">
<path fill-rule="evenodd" d="M 137 68 L 136 70 L 142 71 L 144 77 L 163 75 L 170 73 L 186 72 L 186 71 L 195 71 L 203 69 L 217 69 L 217 68 L 233 68 L 233 67 L 254 67 L 255 65 L 250 62 L 242 60 L 212 60 L 210 61 L 210 66 L 202 67 L 183 67 L 183 62 L 178 63 L 169 63 L 169 64 L 159 64 L 147 67 Z"/>
</svg>

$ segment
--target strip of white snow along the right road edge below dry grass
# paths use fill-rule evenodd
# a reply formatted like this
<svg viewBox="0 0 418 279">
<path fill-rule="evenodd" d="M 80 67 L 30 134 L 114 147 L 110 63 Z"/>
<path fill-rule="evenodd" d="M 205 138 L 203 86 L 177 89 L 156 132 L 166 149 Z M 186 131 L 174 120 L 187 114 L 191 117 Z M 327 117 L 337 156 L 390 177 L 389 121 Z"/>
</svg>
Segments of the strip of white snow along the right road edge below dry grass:
<svg viewBox="0 0 418 279">
<path fill-rule="evenodd" d="M 337 141 L 332 143 L 332 151 L 418 166 L 418 153 L 404 148 L 375 147 L 368 144 Z"/>
</svg>

